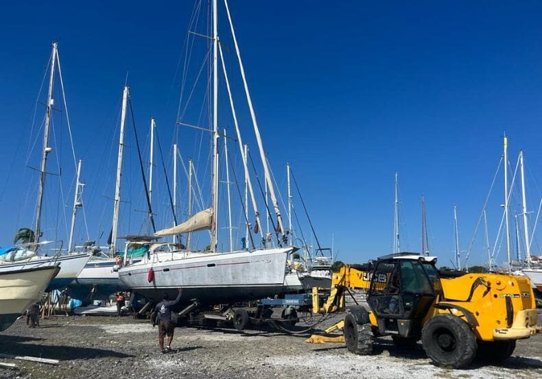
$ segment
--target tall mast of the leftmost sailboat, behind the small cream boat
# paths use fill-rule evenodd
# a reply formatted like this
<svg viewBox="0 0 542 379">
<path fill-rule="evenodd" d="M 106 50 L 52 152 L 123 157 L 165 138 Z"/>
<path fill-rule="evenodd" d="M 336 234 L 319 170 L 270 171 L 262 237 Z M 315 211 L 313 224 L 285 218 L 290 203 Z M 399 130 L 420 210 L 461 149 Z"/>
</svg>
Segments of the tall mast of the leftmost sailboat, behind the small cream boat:
<svg viewBox="0 0 542 379">
<path fill-rule="evenodd" d="M 47 107 L 45 110 L 45 126 L 43 127 L 43 150 L 41 155 L 40 167 L 40 186 L 38 188 L 38 205 L 36 209 L 36 232 L 34 233 L 34 242 L 38 243 L 41 236 L 41 208 L 43 206 L 43 190 L 45 189 L 45 172 L 47 169 L 47 154 L 53 151 L 49 147 L 49 128 L 51 125 L 51 115 L 53 112 L 53 84 L 55 75 L 55 64 L 57 55 L 57 42 L 53 42 L 53 51 L 51 52 L 51 73 L 49 75 L 49 90 L 47 91 Z"/>
</svg>

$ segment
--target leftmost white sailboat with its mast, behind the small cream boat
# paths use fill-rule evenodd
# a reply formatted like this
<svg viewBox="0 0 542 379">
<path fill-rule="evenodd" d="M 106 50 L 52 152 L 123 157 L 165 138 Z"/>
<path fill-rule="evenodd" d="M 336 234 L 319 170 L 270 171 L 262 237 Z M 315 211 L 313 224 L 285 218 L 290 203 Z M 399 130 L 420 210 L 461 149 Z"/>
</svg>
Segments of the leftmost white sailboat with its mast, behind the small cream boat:
<svg viewBox="0 0 542 379">
<path fill-rule="evenodd" d="M 51 153 L 52 148 L 49 147 L 49 129 L 51 125 L 52 112 L 54 110 L 54 99 L 53 99 L 53 84 L 54 84 L 54 75 L 56 65 L 60 67 L 60 60 L 58 58 L 58 44 L 53 42 L 53 49 L 51 52 L 51 71 L 49 73 L 49 90 L 47 93 L 47 104 L 45 112 L 45 125 L 43 127 L 43 150 L 42 158 L 40 165 L 40 181 L 38 187 L 38 204 L 36 209 L 36 231 L 34 232 L 34 241 L 27 244 L 24 248 L 21 248 L 21 245 L 15 245 L 8 247 L 8 250 L 18 251 L 19 253 L 13 254 L 13 259 L 11 260 L 0 260 L 0 273 L 8 273 L 13 271 L 19 271 L 22 269 L 34 269 L 38 267 L 56 267 L 60 264 L 60 271 L 54 277 L 51 282 L 49 282 L 46 291 L 53 291 L 54 289 L 60 289 L 64 286 L 67 286 L 73 279 L 75 279 L 81 270 L 83 269 L 86 262 L 91 257 L 91 254 L 67 254 L 60 255 L 56 254 L 55 256 L 38 256 L 35 254 L 34 250 L 44 245 L 45 243 L 40 243 L 40 236 L 42 230 L 40 230 L 40 221 L 43 205 L 43 194 L 45 190 L 45 175 L 47 173 L 47 156 Z M 25 250 L 26 252 L 23 252 Z M 34 252 L 34 254 L 30 254 Z M 17 258 L 19 254 L 19 258 Z"/>
</svg>

